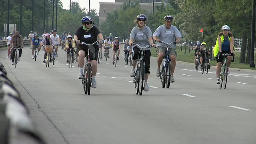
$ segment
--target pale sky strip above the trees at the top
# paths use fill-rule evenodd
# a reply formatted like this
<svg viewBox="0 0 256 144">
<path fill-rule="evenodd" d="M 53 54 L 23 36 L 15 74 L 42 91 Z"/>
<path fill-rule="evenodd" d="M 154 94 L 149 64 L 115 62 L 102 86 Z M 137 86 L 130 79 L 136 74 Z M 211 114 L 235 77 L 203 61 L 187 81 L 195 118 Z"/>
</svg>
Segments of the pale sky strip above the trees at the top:
<svg viewBox="0 0 256 144">
<path fill-rule="evenodd" d="M 63 9 L 69 10 L 70 0 L 61 0 Z M 71 2 L 78 2 L 81 8 L 88 9 L 89 0 L 71 0 Z M 100 11 L 100 2 L 115 2 L 115 0 L 90 0 L 90 9 L 95 8 Z"/>
</svg>

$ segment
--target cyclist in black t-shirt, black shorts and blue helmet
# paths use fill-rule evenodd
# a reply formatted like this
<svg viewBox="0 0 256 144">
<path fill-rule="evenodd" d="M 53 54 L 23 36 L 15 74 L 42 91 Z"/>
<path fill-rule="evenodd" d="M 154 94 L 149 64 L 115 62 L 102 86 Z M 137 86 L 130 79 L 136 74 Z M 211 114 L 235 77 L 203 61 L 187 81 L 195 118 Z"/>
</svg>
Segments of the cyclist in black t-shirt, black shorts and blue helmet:
<svg viewBox="0 0 256 144">
<path fill-rule="evenodd" d="M 79 65 L 79 74 L 78 78 L 83 78 L 83 66 L 84 66 L 84 57 L 88 55 L 88 46 L 80 45 L 80 41 L 85 42 L 86 44 L 92 44 L 97 41 L 97 37 L 100 38 L 99 43 L 103 44 L 103 35 L 96 26 L 93 26 L 93 20 L 90 16 L 85 16 L 82 18 L 83 26 L 80 26 L 74 35 L 74 40 L 78 44 L 76 53 L 78 54 L 78 65 Z M 92 65 L 92 88 L 96 88 L 96 73 L 97 73 L 97 58 L 98 58 L 98 45 L 94 46 L 95 53 L 90 52 L 90 63 Z"/>
</svg>

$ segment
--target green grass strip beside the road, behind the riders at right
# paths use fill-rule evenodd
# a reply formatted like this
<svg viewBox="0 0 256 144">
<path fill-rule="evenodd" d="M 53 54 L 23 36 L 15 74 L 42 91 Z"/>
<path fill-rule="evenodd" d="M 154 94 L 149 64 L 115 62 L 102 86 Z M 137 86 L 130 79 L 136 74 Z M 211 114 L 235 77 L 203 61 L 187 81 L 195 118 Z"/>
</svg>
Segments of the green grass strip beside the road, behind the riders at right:
<svg viewBox="0 0 256 144">
<path fill-rule="evenodd" d="M 191 47 L 192 48 L 192 47 Z M 186 49 L 186 54 L 184 54 L 185 50 L 183 49 L 181 51 L 181 49 L 179 50 L 179 46 L 176 47 L 176 51 L 177 51 L 177 58 L 176 60 L 178 61 L 182 61 L 182 62 L 189 62 L 189 63 L 194 63 L 194 50 L 191 50 L 191 52 L 188 52 L 188 49 Z M 240 64 L 240 52 L 235 52 L 236 56 L 235 56 L 235 61 L 231 63 L 231 68 L 241 68 L 241 69 L 251 69 L 251 70 L 256 70 L 256 68 L 250 68 L 250 64 Z M 156 54 L 156 48 L 151 48 L 151 56 L 157 57 Z M 256 58 L 255 58 L 256 60 Z M 211 60 L 210 64 L 212 66 L 216 66 L 216 60 Z"/>
</svg>

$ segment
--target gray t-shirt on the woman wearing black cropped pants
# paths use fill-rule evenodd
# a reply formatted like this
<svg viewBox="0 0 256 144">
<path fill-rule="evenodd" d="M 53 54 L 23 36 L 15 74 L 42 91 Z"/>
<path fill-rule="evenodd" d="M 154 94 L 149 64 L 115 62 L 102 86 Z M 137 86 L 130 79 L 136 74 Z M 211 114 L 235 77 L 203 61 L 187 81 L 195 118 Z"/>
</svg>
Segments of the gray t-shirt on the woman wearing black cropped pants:
<svg viewBox="0 0 256 144">
<path fill-rule="evenodd" d="M 132 28 L 130 38 L 134 38 L 134 44 L 142 47 L 150 45 L 149 37 L 152 37 L 152 32 L 148 26 L 144 26 L 143 29 L 139 29 L 138 26 Z M 146 48 L 145 50 L 150 50 L 150 48 Z"/>
</svg>

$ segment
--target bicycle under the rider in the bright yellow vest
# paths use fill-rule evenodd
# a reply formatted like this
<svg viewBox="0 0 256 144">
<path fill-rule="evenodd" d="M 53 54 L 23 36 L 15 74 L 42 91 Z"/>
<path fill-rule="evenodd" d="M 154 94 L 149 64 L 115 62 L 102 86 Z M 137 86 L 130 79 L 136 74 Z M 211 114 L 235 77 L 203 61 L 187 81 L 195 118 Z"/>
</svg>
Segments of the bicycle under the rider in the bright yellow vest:
<svg viewBox="0 0 256 144">
<path fill-rule="evenodd" d="M 231 56 L 231 54 L 222 54 L 224 56 L 224 60 L 222 60 L 221 68 L 220 68 L 220 88 L 222 88 L 222 84 L 224 84 L 224 89 L 226 89 L 227 81 L 228 81 L 228 56 Z M 218 55 L 218 58 L 220 58 L 220 55 Z M 235 57 L 233 55 L 233 60 L 235 61 Z"/>
</svg>

